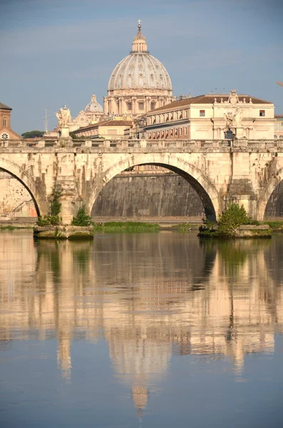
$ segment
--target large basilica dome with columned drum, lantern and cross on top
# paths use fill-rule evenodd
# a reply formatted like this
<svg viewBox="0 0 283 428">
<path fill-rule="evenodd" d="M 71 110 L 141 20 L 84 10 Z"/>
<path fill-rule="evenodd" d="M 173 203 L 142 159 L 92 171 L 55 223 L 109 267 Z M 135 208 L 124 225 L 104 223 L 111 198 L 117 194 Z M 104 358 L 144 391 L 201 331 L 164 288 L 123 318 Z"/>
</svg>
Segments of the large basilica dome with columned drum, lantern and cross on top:
<svg viewBox="0 0 283 428">
<path fill-rule="evenodd" d="M 115 66 L 110 76 L 104 112 L 136 117 L 171 101 L 172 83 L 168 71 L 150 55 L 139 24 L 130 55 Z"/>
</svg>

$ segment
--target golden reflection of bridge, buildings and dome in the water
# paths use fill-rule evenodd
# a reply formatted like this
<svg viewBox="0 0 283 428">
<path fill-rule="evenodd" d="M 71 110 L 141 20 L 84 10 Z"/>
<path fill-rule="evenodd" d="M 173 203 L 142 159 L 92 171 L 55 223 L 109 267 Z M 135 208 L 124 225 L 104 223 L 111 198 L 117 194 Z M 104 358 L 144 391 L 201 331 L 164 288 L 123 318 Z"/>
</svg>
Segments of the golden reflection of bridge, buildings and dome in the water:
<svg viewBox="0 0 283 428">
<path fill-rule="evenodd" d="M 1 341 L 57 337 L 58 367 L 68 379 L 71 340 L 104 338 L 139 411 L 173 353 L 225 355 L 241 372 L 245 354 L 272 352 L 274 333 L 283 331 L 282 280 L 270 261 L 282 240 L 200 243 L 177 233 L 101 235 L 93 243 L 34 243 L 26 233 L 1 238 Z"/>
</svg>

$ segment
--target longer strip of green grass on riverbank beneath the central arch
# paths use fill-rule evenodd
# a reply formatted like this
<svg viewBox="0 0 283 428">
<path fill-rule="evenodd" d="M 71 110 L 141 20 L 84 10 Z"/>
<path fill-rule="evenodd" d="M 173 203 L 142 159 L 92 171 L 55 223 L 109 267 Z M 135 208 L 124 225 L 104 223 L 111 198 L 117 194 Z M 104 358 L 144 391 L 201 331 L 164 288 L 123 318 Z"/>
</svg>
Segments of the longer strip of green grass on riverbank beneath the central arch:
<svg viewBox="0 0 283 428">
<path fill-rule="evenodd" d="M 139 223 L 135 221 L 110 221 L 108 223 L 94 223 L 95 232 L 159 232 L 160 226 L 155 223 Z"/>
</svg>

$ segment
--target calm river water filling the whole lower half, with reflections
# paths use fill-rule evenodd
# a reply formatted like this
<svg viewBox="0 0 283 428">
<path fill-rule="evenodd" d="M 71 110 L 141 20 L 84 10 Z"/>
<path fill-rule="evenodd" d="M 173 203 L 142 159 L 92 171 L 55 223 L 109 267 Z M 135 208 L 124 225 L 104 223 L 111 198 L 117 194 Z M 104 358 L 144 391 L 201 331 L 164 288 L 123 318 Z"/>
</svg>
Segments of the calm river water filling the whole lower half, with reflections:
<svg viewBox="0 0 283 428">
<path fill-rule="evenodd" d="M 0 233 L 1 427 L 283 427 L 283 235 Z"/>
</svg>

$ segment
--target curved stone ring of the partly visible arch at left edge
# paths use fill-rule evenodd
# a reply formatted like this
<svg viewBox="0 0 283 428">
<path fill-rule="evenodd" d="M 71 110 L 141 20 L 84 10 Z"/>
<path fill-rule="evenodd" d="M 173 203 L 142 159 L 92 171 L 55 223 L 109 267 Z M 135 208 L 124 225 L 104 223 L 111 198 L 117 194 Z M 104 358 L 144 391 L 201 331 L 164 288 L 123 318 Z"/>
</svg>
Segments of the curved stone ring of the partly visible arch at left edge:
<svg viewBox="0 0 283 428">
<path fill-rule="evenodd" d="M 0 170 L 9 173 L 22 185 L 24 185 L 26 190 L 28 190 L 29 194 L 31 195 L 31 199 L 34 201 L 34 206 L 38 216 L 45 213 L 45 203 L 43 200 L 41 200 L 43 195 L 42 190 L 38 188 L 34 180 L 29 176 L 29 174 L 26 173 L 26 171 L 19 168 L 19 166 L 15 163 L 7 161 L 3 158 L 0 158 Z"/>
</svg>

